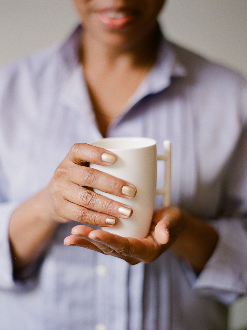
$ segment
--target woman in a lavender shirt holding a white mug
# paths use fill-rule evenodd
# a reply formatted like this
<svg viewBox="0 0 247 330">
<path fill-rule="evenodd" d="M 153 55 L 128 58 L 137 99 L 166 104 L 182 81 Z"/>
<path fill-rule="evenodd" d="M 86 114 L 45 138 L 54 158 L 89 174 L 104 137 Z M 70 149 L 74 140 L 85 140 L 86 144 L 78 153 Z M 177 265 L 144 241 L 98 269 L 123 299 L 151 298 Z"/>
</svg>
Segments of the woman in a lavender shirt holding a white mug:
<svg viewBox="0 0 247 330">
<path fill-rule="evenodd" d="M 163 2 L 75 0 L 83 28 L 3 72 L 1 282 L 12 289 L 2 293 L 3 329 L 225 329 L 219 302 L 246 292 L 244 224 L 205 221 L 232 201 L 231 215 L 236 201 L 246 208 L 246 159 L 237 157 L 246 84 L 166 42 L 156 20 Z M 157 199 L 142 240 L 87 226 L 132 214 L 131 182 L 85 166 L 111 166 L 114 154 L 88 143 L 122 135 L 173 146 L 177 206 L 159 209 Z"/>
</svg>

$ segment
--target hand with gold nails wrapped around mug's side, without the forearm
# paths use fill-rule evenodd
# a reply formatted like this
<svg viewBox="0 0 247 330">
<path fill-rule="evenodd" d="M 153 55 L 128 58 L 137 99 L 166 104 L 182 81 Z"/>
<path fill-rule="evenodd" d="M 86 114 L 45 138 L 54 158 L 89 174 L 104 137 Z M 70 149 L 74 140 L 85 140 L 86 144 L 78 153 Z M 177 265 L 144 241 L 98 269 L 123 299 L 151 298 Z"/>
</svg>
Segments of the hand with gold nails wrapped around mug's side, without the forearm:
<svg viewBox="0 0 247 330">
<path fill-rule="evenodd" d="M 85 143 L 77 143 L 56 169 L 49 184 L 53 214 L 56 221 L 75 220 L 84 224 L 110 227 L 117 217 L 128 218 L 132 209 L 122 203 L 101 196 L 91 190 L 133 198 L 134 185 L 104 172 L 90 168 L 87 163 L 110 166 L 117 157 L 114 153 Z"/>
</svg>

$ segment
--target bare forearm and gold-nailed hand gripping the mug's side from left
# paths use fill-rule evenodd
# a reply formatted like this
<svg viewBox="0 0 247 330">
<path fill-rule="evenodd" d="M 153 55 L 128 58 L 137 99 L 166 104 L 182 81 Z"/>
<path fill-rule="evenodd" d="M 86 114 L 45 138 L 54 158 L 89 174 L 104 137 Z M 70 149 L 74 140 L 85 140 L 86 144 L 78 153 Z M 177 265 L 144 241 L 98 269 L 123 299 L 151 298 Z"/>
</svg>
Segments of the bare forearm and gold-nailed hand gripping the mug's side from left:
<svg viewBox="0 0 247 330">
<path fill-rule="evenodd" d="M 113 226 L 116 217 L 128 218 L 132 209 L 86 188 L 92 187 L 124 198 L 136 188 L 95 169 L 86 162 L 109 166 L 116 156 L 105 149 L 79 143 L 58 166 L 50 184 L 20 205 L 12 214 L 9 240 L 15 270 L 37 260 L 52 240 L 59 222 L 75 220 L 97 226 Z"/>
</svg>

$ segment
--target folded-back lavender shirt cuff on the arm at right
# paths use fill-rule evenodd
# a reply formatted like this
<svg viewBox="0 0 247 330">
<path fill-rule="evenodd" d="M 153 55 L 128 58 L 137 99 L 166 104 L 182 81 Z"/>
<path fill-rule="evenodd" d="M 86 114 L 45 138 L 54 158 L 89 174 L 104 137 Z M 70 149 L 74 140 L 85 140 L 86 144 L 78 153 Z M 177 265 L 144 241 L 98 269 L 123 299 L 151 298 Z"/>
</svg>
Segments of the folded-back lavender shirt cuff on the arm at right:
<svg viewBox="0 0 247 330">
<path fill-rule="evenodd" d="M 246 230 L 238 219 L 221 219 L 213 226 L 219 234 L 217 246 L 203 271 L 190 283 L 198 294 L 231 304 L 247 292 Z"/>
</svg>

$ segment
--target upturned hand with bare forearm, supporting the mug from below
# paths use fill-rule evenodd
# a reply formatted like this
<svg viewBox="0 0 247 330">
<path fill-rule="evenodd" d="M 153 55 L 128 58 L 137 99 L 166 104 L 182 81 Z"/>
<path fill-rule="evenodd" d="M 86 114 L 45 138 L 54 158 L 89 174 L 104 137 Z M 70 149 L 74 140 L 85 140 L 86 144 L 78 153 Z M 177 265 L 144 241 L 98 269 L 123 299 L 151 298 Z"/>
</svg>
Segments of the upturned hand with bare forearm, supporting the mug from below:
<svg viewBox="0 0 247 330">
<path fill-rule="evenodd" d="M 204 220 L 168 207 L 156 211 L 146 238 L 121 237 L 78 225 L 65 245 L 76 245 L 124 259 L 129 264 L 150 263 L 168 248 L 200 272 L 216 247 L 218 235 Z"/>
</svg>

